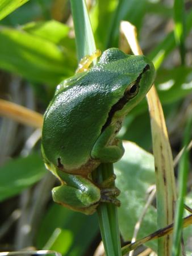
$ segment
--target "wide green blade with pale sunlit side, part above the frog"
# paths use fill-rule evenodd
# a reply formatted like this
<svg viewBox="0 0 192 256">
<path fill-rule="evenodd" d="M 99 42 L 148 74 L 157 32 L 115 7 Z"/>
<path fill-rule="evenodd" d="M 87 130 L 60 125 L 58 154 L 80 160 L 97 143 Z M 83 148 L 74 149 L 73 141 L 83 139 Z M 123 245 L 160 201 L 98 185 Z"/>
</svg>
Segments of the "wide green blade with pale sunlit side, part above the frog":
<svg viewBox="0 0 192 256">
<path fill-rule="evenodd" d="M 71 0 L 74 31 L 76 33 L 77 56 L 80 61 L 85 55 L 95 51 L 95 40 L 85 1 Z"/>
</svg>

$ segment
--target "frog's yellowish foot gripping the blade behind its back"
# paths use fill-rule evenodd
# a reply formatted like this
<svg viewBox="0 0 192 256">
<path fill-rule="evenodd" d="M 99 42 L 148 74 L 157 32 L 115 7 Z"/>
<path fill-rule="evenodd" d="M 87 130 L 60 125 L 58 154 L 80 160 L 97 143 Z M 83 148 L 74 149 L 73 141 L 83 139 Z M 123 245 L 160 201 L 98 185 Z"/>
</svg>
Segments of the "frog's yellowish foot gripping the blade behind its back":
<svg viewBox="0 0 192 256">
<path fill-rule="evenodd" d="M 94 59 L 97 59 L 101 55 L 101 51 L 97 49 L 92 55 L 86 55 L 80 60 L 78 67 L 76 69 L 76 73 L 81 73 L 87 71 L 91 63 L 93 63 Z"/>
</svg>

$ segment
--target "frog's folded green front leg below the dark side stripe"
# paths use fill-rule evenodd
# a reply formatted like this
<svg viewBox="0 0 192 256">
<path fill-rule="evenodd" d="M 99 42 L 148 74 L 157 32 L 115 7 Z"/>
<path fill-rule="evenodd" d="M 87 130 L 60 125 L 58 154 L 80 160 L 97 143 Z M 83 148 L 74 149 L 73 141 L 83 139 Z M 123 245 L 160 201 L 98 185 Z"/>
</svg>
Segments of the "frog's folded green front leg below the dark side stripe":
<svg viewBox="0 0 192 256">
<path fill-rule="evenodd" d="M 115 125 L 110 125 L 101 133 L 94 144 L 91 156 L 102 163 L 114 163 L 122 158 L 124 148 L 122 141 L 114 138 Z"/>
</svg>

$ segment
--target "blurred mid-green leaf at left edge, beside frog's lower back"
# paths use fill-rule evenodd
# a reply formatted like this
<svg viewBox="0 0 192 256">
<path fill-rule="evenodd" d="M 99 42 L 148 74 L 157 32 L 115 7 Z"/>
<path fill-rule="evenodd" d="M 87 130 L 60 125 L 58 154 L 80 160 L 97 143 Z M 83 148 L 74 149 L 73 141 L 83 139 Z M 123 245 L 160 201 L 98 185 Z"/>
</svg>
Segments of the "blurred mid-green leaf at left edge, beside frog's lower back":
<svg viewBox="0 0 192 256">
<path fill-rule="evenodd" d="M 45 172 L 43 160 L 37 154 L 7 161 L 0 168 L 0 201 L 18 195 L 39 181 Z"/>
</svg>

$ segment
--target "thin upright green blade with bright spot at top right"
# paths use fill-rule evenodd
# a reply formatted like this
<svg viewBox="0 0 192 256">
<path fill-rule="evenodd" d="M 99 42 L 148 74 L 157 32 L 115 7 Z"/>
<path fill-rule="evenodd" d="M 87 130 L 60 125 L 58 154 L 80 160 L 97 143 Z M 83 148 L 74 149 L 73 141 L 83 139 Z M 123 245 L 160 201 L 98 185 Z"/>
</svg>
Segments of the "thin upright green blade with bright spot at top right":
<svg viewBox="0 0 192 256">
<path fill-rule="evenodd" d="M 181 63 L 185 64 L 185 3 L 183 0 L 174 0 L 174 36 L 180 47 Z"/>
</svg>

